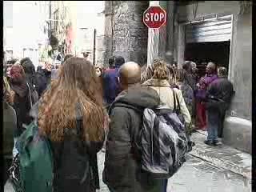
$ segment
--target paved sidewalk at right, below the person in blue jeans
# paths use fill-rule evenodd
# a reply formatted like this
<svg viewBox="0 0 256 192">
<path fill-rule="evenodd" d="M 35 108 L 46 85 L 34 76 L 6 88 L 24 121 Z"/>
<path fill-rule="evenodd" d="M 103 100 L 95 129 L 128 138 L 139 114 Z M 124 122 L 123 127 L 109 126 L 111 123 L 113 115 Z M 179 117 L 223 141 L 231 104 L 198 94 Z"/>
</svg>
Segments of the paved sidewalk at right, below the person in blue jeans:
<svg viewBox="0 0 256 192">
<path fill-rule="evenodd" d="M 191 140 L 195 142 L 195 146 L 190 154 L 202 158 L 214 166 L 230 170 L 235 174 L 240 174 L 250 182 L 251 155 L 223 144 L 220 144 L 219 146 L 207 146 L 204 143 L 206 136 L 207 132 L 201 130 L 192 134 Z"/>
</svg>

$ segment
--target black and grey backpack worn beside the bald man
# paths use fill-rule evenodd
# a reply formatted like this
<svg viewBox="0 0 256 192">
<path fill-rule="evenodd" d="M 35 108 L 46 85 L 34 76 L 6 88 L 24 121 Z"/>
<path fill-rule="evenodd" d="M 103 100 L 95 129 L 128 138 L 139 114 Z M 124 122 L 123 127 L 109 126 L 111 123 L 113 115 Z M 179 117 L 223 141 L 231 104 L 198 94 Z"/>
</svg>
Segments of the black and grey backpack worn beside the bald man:
<svg viewBox="0 0 256 192">
<path fill-rule="evenodd" d="M 144 110 L 142 130 L 136 143 L 142 171 L 155 179 L 173 176 L 186 162 L 185 154 L 191 150 L 174 90 L 173 94 L 174 110 L 168 106 Z"/>
</svg>

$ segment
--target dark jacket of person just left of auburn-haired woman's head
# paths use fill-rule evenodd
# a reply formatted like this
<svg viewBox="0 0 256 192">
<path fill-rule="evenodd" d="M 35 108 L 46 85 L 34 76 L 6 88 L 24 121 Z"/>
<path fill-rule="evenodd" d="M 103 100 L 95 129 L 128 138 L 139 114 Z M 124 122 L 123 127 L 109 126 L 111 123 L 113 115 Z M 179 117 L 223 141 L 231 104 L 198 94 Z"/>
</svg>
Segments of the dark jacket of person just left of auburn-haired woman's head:
<svg viewBox="0 0 256 192">
<path fill-rule="evenodd" d="M 38 70 L 38 97 L 41 98 L 43 92 L 46 90 L 47 86 L 51 81 L 51 72 L 45 69 Z"/>
</svg>

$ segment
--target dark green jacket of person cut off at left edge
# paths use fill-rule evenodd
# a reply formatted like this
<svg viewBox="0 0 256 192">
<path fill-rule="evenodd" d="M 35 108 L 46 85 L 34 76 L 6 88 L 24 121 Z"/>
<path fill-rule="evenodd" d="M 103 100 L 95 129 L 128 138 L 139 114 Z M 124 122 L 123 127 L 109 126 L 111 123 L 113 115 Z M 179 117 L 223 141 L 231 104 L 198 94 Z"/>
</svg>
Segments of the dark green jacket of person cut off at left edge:
<svg viewBox="0 0 256 192">
<path fill-rule="evenodd" d="M 3 102 L 3 154 L 12 157 L 14 130 L 17 129 L 16 112 L 8 103 Z"/>
</svg>

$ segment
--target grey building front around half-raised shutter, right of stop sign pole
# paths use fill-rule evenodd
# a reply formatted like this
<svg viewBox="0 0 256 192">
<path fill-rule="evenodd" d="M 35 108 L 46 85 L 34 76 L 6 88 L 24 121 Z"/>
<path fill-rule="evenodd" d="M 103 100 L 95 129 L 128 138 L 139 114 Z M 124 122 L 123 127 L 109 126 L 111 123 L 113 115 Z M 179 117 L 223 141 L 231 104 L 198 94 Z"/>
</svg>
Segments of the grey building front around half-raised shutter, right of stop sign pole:
<svg viewBox="0 0 256 192">
<path fill-rule="evenodd" d="M 171 2 L 168 2 L 169 4 Z M 194 4 L 195 3 L 195 4 Z M 173 57 L 179 67 L 186 59 L 188 38 L 197 38 L 198 44 L 229 42 L 228 78 L 234 84 L 235 95 L 230 110 L 226 113 L 222 142 L 239 150 L 251 153 L 252 135 L 252 6 L 251 2 L 199 1 L 186 2 L 175 7 L 173 35 L 169 41 Z M 172 14 L 167 10 L 167 14 Z M 192 24 L 194 23 L 194 25 Z M 202 24 L 201 24 L 202 23 Z M 212 24 L 215 23 L 215 24 Z M 225 25 L 222 23 L 225 23 Z M 199 27 L 204 25 L 205 27 Z M 168 23 L 167 23 L 168 26 Z M 197 28 L 189 37 L 187 29 Z M 205 34 L 205 37 L 202 37 Z M 226 36 L 227 35 L 227 36 Z M 228 37 L 229 36 L 229 37 Z M 228 38 L 227 38 L 228 37 Z M 200 39 L 201 38 L 201 39 Z M 205 40 L 204 40 L 205 38 Z M 200 39 L 200 40 L 199 40 Z M 224 43 L 222 43 L 222 46 Z M 218 58 L 224 54 L 221 47 L 215 52 Z M 191 50 L 192 51 L 192 50 Z M 201 51 L 201 50 L 200 50 Z M 202 50 L 203 51 L 203 50 Z M 203 52 L 201 54 L 204 54 Z M 199 55 L 200 56 L 200 55 Z M 218 61 L 218 58 L 216 59 Z M 222 65 L 222 63 L 216 63 Z"/>
</svg>

